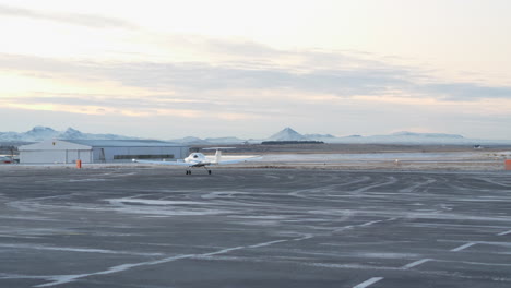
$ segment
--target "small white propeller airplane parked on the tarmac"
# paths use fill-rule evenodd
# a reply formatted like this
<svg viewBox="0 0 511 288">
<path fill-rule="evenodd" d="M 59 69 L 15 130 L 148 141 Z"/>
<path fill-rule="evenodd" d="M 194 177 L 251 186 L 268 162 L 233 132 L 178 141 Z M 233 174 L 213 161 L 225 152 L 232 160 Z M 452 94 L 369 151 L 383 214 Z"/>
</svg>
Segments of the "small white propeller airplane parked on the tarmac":
<svg viewBox="0 0 511 288">
<path fill-rule="evenodd" d="M 158 164 L 158 165 L 175 165 L 175 166 L 186 166 L 187 175 L 191 175 L 192 168 L 204 167 L 207 170 L 207 173 L 211 175 L 211 170 L 207 169 L 210 165 L 225 165 L 225 164 L 237 164 L 237 163 L 245 163 L 249 160 L 254 160 L 260 157 L 250 157 L 250 158 L 242 158 L 242 159 L 234 159 L 234 160 L 222 160 L 222 151 L 223 149 L 234 149 L 234 147 L 212 147 L 212 148 L 204 148 L 204 149 L 215 149 L 215 159 L 209 159 L 202 153 L 194 152 L 190 154 L 187 158 L 182 161 L 152 161 L 152 160 L 138 160 L 133 159 L 134 163 L 146 163 L 146 164 Z"/>
</svg>

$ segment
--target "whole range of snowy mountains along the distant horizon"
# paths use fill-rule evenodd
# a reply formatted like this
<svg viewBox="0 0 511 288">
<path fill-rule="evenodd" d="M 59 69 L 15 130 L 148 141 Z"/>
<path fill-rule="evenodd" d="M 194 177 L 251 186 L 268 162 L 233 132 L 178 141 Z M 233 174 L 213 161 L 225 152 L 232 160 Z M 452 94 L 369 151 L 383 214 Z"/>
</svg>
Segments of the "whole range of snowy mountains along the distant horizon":
<svg viewBox="0 0 511 288">
<path fill-rule="evenodd" d="M 17 132 L 0 132 L 0 142 L 39 142 L 47 139 L 68 139 L 68 140 L 128 140 L 134 139 L 130 136 L 117 134 L 93 134 L 83 133 L 79 130 L 68 128 L 66 131 L 56 131 L 48 127 L 34 127 L 32 130 Z M 300 134 L 292 128 L 285 128 L 280 132 L 266 139 L 238 139 L 238 137 L 210 137 L 200 139 L 188 136 L 183 139 L 168 140 L 169 142 L 189 144 L 189 145 L 210 145 L 210 144 L 257 144 L 262 141 L 322 141 L 324 143 L 346 143 L 346 144 L 511 144 L 511 141 L 498 140 L 475 140 L 466 139 L 456 134 L 442 133 L 414 133 L 414 132 L 397 132 L 388 135 L 350 135 L 350 136 L 334 136 L 331 134 Z"/>
</svg>

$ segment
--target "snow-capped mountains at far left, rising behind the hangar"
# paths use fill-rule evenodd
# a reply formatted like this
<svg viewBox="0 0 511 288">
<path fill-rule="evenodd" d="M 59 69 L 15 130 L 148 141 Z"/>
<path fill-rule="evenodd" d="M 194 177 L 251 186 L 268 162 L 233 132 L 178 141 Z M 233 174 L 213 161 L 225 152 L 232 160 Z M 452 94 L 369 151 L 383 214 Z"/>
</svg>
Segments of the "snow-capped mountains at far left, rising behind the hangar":
<svg viewBox="0 0 511 288">
<path fill-rule="evenodd" d="M 82 133 L 75 129 L 68 128 L 66 131 L 56 131 L 49 127 L 34 127 L 26 132 L 0 132 L 2 142 L 39 142 L 47 139 L 69 139 L 69 140 L 123 140 L 133 139 L 116 134 L 92 134 Z"/>
</svg>

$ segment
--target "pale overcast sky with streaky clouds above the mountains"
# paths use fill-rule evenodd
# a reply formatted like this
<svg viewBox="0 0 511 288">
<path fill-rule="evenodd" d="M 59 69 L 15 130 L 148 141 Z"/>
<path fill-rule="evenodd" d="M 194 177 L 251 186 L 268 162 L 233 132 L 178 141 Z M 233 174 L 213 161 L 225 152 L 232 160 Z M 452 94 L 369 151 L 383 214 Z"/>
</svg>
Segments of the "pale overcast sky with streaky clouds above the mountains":
<svg viewBox="0 0 511 288">
<path fill-rule="evenodd" d="M 511 140 L 508 0 L 0 0 L 0 131 Z"/>
</svg>

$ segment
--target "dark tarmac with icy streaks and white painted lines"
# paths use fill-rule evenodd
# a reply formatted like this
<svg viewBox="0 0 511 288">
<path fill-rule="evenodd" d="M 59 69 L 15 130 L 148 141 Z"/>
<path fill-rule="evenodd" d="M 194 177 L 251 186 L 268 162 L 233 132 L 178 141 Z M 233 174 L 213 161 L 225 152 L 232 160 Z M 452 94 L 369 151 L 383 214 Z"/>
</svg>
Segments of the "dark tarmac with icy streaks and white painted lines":
<svg viewBox="0 0 511 288">
<path fill-rule="evenodd" d="M 0 287 L 511 287 L 504 171 L 0 177 Z"/>
</svg>

